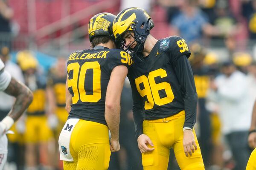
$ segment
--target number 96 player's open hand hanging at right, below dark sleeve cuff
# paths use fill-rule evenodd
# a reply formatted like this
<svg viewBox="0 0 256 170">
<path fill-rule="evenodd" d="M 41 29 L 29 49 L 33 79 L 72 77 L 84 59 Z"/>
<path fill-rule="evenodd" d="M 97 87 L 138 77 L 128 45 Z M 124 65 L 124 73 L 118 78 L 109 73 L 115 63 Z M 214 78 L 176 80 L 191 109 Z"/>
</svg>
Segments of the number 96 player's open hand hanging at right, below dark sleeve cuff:
<svg viewBox="0 0 256 170">
<path fill-rule="evenodd" d="M 192 156 L 192 153 L 197 150 L 197 145 L 195 143 L 195 136 L 190 129 L 186 129 L 183 132 L 183 147 L 185 155 L 188 157 Z"/>
</svg>

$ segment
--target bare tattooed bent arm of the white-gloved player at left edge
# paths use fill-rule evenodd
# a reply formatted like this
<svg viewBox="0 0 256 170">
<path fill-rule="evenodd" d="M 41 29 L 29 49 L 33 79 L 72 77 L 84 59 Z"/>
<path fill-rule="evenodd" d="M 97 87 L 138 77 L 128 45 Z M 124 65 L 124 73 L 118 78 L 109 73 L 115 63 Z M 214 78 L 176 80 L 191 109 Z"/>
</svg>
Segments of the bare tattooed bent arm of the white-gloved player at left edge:
<svg viewBox="0 0 256 170">
<path fill-rule="evenodd" d="M 27 88 L 20 82 L 17 82 L 13 78 L 9 86 L 6 88 L 5 92 L 11 96 L 16 97 L 15 103 L 8 114 L 8 116 L 16 121 L 32 102 L 33 94 L 29 90 L 29 88 Z"/>
</svg>

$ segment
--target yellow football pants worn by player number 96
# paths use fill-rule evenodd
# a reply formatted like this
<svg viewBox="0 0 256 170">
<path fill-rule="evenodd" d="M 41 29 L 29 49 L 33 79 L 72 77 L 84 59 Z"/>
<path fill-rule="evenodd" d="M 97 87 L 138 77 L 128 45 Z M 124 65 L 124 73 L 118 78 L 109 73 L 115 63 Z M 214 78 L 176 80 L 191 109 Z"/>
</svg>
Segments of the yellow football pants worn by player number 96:
<svg viewBox="0 0 256 170">
<path fill-rule="evenodd" d="M 170 116 L 169 122 L 157 122 L 144 120 L 143 133 L 154 144 L 152 152 L 142 154 L 144 170 L 167 170 L 169 162 L 169 150 L 174 148 L 175 157 L 181 170 L 204 170 L 204 162 L 198 140 L 195 135 L 197 150 L 192 156 L 186 157 L 183 149 L 183 124 L 185 112 Z M 150 145 L 148 147 L 151 147 Z"/>
</svg>

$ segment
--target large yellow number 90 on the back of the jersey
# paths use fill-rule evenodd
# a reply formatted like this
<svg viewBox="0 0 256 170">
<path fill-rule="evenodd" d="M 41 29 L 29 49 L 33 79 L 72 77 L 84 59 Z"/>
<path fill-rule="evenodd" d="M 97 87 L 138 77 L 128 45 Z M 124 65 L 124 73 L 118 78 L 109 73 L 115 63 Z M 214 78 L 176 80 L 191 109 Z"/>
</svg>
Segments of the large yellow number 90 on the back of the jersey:
<svg viewBox="0 0 256 170">
<path fill-rule="evenodd" d="M 93 69 L 93 94 L 86 94 L 84 89 L 87 69 Z M 71 70 L 73 70 L 73 79 L 68 79 L 67 83 L 68 87 L 73 89 L 72 103 L 78 102 L 79 94 L 81 102 L 98 102 L 101 99 L 101 70 L 99 62 L 85 62 L 81 66 L 78 62 L 74 62 L 67 66 L 68 74 Z"/>
</svg>

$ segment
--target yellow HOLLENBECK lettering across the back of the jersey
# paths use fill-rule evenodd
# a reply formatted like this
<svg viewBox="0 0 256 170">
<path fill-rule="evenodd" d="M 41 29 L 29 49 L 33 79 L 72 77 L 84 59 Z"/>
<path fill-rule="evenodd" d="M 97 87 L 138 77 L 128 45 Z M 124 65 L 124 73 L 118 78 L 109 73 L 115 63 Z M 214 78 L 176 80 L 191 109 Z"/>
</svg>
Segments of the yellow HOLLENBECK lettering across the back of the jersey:
<svg viewBox="0 0 256 170">
<path fill-rule="evenodd" d="M 109 51 L 99 51 L 97 53 L 82 53 L 74 52 L 70 54 L 68 61 L 76 59 L 96 59 L 96 58 L 106 58 Z"/>
</svg>

